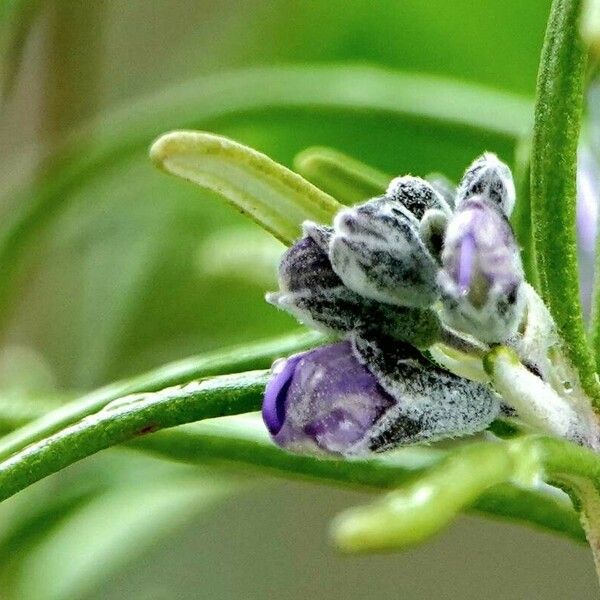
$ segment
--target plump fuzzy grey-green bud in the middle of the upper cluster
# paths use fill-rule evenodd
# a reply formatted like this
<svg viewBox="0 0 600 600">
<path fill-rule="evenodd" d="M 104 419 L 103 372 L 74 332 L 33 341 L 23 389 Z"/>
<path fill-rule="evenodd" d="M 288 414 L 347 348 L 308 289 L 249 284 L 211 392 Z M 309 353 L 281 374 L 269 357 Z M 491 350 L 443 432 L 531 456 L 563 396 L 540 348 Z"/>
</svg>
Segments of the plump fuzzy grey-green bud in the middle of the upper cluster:
<svg viewBox="0 0 600 600">
<path fill-rule="evenodd" d="M 427 307 L 438 298 L 438 266 L 419 236 L 419 222 L 401 204 L 375 198 L 340 211 L 329 258 L 357 294 L 400 306 Z"/>
</svg>

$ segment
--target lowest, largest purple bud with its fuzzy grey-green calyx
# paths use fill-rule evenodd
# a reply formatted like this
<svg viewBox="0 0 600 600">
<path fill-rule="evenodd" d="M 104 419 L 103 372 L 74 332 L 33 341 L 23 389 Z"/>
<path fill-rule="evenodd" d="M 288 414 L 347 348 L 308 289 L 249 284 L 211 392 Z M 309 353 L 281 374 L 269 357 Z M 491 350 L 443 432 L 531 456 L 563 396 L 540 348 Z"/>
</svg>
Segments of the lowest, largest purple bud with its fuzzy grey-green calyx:
<svg viewBox="0 0 600 600">
<path fill-rule="evenodd" d="M 410 346 L 357 336 L 276 363 L 263 419 L 287 450 L 350 456 L 479 431 L 499 409 Z"/>
</svg>

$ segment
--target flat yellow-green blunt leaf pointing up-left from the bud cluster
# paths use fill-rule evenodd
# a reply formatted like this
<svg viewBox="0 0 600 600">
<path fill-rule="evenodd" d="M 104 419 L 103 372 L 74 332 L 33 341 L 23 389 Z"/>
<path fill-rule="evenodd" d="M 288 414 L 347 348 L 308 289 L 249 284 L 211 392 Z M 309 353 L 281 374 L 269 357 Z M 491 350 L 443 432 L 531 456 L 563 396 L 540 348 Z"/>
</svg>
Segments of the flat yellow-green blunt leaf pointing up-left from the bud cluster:
<svg viewBox="0 0 600 600">
<path fill-rule="evenodd" d="M 210 133 L 167 133 L 150 157 L 167 173 L 225 197 L 287 245 L 302 235 L 303 221 L 328 224 L 342 207 L 268 156 Z"/>
</svg>

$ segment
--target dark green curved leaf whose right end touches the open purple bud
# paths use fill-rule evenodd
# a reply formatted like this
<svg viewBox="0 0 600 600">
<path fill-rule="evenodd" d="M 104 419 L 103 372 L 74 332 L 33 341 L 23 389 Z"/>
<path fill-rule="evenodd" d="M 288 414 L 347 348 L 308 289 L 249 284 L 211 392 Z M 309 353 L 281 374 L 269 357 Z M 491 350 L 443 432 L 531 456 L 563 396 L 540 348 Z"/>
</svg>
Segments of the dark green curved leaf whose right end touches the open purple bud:
<svg viewBox="0 0 600 600">
<path fill-rule="evenodd" d="M 159 429 L 258 410 L 268 371 L 126 396 L 0 463 L 0 501 L 86 456 Z"/>
</svg>

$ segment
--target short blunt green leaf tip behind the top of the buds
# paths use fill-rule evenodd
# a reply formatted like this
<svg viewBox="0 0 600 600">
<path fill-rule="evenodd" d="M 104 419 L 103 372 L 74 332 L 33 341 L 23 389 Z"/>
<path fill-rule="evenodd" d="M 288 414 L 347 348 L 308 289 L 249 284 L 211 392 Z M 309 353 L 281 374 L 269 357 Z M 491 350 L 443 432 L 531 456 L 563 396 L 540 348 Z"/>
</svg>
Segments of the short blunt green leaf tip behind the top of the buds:
<svg viewBox="0 0 600 600">
<path fill-rule="evenodd" d="M 294 159 L 294 168 L 347 205 L 382 194 L 392 179 L 332 148 L 307 148 Z"/>
</svg>

